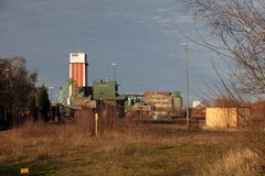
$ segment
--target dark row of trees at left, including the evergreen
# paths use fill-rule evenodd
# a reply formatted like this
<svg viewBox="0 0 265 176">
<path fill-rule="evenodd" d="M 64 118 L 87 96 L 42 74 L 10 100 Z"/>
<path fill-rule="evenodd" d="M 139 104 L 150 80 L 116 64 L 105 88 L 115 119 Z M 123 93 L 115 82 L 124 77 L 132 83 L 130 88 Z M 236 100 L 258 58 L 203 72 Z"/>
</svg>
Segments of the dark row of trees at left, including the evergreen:
<svg viewBox="0 0 265 176">
<path fill-rule="evenodd" d="M 26 69 L 23 57 L 0 58 L 0 125 L 21 124 L 26 118 L 47 121 L 47 88 L 36 87 L 38 74 Z"/>
</svg>

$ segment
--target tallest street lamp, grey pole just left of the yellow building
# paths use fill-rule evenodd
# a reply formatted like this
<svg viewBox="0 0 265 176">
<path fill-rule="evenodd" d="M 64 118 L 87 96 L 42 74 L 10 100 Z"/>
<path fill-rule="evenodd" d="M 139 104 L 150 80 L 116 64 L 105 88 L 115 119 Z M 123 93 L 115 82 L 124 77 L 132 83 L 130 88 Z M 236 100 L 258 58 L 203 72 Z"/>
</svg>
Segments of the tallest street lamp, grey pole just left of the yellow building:
<svg viewBox="0 0 265 176">
<path fill-rule="evenodd" d="M 187 128 L 190 128 L 190 111 L 189 111 L 189 97 L 190 97 L 190 90 L 189 90 L 189 62 L 188 62 L 188 46 L 189 44 L 182 43 L 180 44 L 184 47 L 186 51 L 186 82 L 187 82 L 187 108 L 186 108 L 186 119 L 187 119 Z"/>
</svg>

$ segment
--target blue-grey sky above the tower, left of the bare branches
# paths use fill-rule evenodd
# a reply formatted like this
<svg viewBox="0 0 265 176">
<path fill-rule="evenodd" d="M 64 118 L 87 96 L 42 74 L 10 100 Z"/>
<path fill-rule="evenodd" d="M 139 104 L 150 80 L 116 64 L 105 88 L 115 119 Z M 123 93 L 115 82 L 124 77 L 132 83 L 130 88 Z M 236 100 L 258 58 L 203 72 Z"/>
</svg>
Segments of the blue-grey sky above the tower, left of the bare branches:
<svg viewBox="0 0 265 176">
<path fill-rule="evenodd" d="M 190 97 L 200 99 L 215 74 L 214 55 L 187 37 L 198 37 L 198 31 L 203 23 L 178 0 L 0 0 L 0 57 L 24 57 L 54 95 L 68 78 L 68 54 L 82 52 L 89 86 L 112 78 L 116 63 L 120 92 L 186 96 L 180 44 L 188 43 Z"/>
</svg>

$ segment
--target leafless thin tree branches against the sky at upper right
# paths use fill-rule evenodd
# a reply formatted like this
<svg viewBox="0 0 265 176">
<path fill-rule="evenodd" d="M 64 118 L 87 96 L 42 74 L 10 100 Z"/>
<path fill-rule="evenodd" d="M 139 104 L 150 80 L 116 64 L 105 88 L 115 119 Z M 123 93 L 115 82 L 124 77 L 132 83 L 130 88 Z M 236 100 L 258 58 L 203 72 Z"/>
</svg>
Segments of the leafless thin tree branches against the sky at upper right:
<svg viewBox="0 0 265 176">
<path fill-rule="evenodd" d="M 204 20 L 220 45 L 202 44 L 235 62 L 231 73 L 243 94 L 265 94 L 265 1 L 187 0 Z"/>
</svg>

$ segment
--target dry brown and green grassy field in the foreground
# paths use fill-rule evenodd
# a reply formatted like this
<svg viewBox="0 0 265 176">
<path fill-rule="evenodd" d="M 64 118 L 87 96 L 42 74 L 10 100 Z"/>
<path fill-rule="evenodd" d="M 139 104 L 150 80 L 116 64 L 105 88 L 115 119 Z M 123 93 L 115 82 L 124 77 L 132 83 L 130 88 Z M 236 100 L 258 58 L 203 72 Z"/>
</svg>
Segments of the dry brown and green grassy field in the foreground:
<svg viewBox="0 0 265 176">
<path fill-rule="evenodd" d="M 21 167 L 49 176 L 212 175 L 211 165 L 240 146 L 236 132 L 119 124 L 94 136 L 87 127 L 26 123 L 1 132 L 0 175 L 17 176 Z"/>
</svg>

